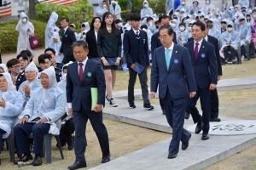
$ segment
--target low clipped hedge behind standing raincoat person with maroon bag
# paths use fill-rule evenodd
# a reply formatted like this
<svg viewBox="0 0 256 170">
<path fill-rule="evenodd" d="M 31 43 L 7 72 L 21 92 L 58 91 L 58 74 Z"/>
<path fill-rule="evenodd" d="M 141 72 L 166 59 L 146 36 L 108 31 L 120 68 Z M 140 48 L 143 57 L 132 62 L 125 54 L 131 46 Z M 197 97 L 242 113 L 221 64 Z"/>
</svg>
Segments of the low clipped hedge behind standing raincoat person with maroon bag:
<svg viewBox="0 0 256 170">
<path fill-rule="evenodd" d="M 2 43 L 2 53 L 15 53 L 19 32 L 15 30 L 19 20 L 9 20 L 0 22 L 0 42 Z M 41 45 L 44 47 L 44 31 L 46 24 L 37 20 L 29 20 L 35 27 L 35 35 L 38 36 Z"/>
</svg>

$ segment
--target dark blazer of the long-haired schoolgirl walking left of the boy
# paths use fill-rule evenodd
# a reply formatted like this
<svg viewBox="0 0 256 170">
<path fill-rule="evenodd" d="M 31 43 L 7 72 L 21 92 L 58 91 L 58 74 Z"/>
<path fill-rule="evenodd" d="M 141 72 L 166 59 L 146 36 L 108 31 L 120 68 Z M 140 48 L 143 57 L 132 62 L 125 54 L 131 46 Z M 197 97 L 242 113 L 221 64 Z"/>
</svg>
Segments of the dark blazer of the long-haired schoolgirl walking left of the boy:
<svg viewBox="0 0 256 170">
<path fill-rule="evenodd" d="M 98 31 L 97 39 L 97 50 L 100 58 L 102 57 L 119 57 L 121 58 L 122 53 L 122 38 L 121 34 L 119 37 L 115 37 L 113 32 L 109 33 L 105 38 L 102 38 L 102 31 Z"/>
</svg>

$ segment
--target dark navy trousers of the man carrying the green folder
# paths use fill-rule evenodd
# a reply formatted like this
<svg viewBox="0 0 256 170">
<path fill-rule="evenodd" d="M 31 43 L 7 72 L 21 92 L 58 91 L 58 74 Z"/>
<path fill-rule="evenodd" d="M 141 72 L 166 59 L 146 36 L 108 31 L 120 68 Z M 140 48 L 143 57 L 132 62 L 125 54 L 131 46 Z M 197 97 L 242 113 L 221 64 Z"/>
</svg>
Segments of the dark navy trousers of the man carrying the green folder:
<svg viewBox="0 0 256 170">
<path fill-rule="evenodd" d="M 98 113 L 95 111 L 85 111 L 82 105 L 80 108 L 79 112 L 73 112 L 73 122 L 76 130 L 74 144 L 76 161 L 85 161 L 85 129 L 88 119 L 101 145 L 102 156 L 108 156 L 110 154 L 108 131 L 102 122 L 102 111 Z"/>
</svg>

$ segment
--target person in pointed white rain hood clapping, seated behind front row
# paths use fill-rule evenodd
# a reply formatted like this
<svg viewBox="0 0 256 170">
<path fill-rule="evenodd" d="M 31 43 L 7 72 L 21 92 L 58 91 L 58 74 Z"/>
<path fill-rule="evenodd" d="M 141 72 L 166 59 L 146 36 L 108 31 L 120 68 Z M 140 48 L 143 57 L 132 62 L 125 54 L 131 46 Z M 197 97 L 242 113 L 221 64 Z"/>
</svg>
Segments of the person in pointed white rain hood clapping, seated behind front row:
<svg viewBox="0 0 256 170">
<path fill-rule="evenodd" d="M 32 61 L 25 69 L 26 81 L 20 84 L 18 92 L 22 94 L 24 103 L 23 108 L 26 105 L 26 102 L 32 96 L 32 93 L 35 92 L 38 88 L 41 88 L 40 79 L 38 79 L 38 67 Z M 22 117 L 21 117 L 22 118 Z"/>
</svg>

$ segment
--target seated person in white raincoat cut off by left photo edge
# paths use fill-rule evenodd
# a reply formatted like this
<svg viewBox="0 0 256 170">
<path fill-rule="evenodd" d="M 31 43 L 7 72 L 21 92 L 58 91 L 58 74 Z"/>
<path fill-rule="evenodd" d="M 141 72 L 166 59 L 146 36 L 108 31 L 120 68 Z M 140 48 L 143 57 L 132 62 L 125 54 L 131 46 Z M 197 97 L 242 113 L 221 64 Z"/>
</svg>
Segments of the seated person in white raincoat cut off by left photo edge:
<svg viewBox="0 0 256 170">
<path fill-rule="evenodd" d="M 9 137 L 13 121 L 22 111 L 23 99 L 16 91 L 8 72 L 0 74 L 0 146 Z M 1 150 L 0 150 L 1 153 Z"/>
</svg>

